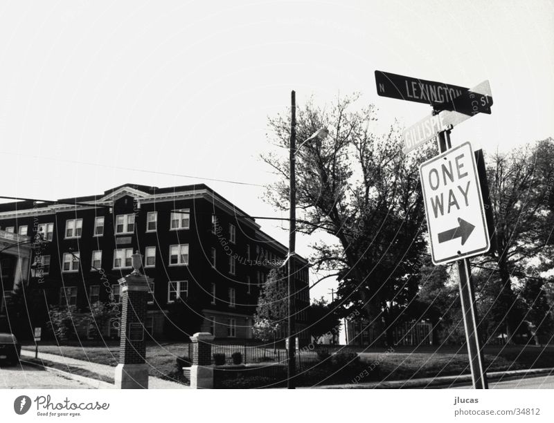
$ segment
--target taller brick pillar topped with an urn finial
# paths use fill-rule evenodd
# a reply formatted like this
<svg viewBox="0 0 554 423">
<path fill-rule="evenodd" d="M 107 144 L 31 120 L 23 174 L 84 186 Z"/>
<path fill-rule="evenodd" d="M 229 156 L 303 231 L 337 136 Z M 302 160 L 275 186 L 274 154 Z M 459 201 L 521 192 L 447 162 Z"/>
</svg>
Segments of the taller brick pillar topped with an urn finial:
<svg viewBox="0 0 554 423">
<path fill-rule="evenodd" d="M 134 271 L 119 279 L 122 302 L 119 364 L 115 385 L 120 389 L 148 389 L 145 328 L 150 278 L 139 272 L 141 256 L 133 254 Z"/>
</svg>

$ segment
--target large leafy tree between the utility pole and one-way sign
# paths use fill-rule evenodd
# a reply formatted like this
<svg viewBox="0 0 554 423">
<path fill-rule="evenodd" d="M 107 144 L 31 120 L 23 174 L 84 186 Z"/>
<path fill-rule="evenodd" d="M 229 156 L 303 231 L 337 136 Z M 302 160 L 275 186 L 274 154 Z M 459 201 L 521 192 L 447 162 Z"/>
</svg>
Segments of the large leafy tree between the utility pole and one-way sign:
<svg viewBox="0 0 554 423">
<path fill-rule="evenodd" d="M 330 135 L 296 153 L 296 198 L 302 211 L 297 223 L 298 232 L 317 230 L 332 237 L 313 245 L 315 270 L 339 276 L 339 303 L 364 309 L 382 333 L 384 320 L 401 314 L 418 290 L 412 276 L 419 269 L 413 264 L 425 250 L 418 164 L 429 151 L 404 155 L 397 125 L 384 135 L 373 133 L 374 106 L 354 110 L 357 100 L 357 95 L 345 97 L 328 109 L 309 102 L 298 112 L 299 142 L 322 127 Z M 269 119 L 269 128 L 272 142 L 288 149 L 288 114 Z M 269 153 L 262 159 L 280 177 L 267 190 L 267 200 L 285 210 L 288 158 Z M 393 325 L 388 329 L 391 338 Z"/>
</svg>

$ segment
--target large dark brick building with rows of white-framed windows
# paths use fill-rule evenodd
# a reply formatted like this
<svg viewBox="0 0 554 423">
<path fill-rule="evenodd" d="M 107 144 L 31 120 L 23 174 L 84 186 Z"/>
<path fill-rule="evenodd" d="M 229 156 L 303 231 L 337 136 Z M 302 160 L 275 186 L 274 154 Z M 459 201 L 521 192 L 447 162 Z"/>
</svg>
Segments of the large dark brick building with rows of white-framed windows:
<svg viewBox="0 0 554 423">
<path fill-rule="evenodd" d="M 177 305 L 200 314 L 197 330 L 216 339 L 251 338 L 260 285 L 287 254 L 253 218 L 206 185 L 126 184 L 52 204 L 5 203 L 0 232 L 21 239 L 42 234 L 49 242 L 42 252 L 30 249 L 38 270 L 28 283 L 44 290 L 48 304 L 75 306 L 84 314 L 97 301 L 118 302 L 117 280 L 131 272 L 131 254 L 138 250 L 143 273 L 153 280 L 145 327 L 156 338 L 175 326 L 168 313 Z M 13 267 L 17 258 L 8 250 L 0 253 L 1 263 L 6 259 Z M 296 330 L 303 343 L 309 342 L 302 332 L 308 275 L 307 261 L 296 256 Z M 13 284 L 3 281 L 4 291 Z M 112 323 L 104 335 L 118 337 Z M 89 327 L 78 332 L 87 336 Z"/>
</svg>

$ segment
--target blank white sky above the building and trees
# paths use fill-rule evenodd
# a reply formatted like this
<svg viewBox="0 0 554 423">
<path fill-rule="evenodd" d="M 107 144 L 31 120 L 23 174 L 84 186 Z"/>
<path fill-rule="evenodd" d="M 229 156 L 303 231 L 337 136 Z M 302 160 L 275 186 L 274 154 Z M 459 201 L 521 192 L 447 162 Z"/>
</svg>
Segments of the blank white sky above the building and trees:
<svg viewBox="0 0 554 423">
<path fill-rule="evenodd" d="M 299 106 L 360 91 L 386 124 L 429 114 L 377 97 L 375 69 L 468 87 L 489 79 L 492 115 L 456 127 L 454 144 L 546 138 L 553 12 L 553 1 L 506 0 L 3 1 L 1 192 L 62 198 L 125 182 L 206 182 L 253 216 L 275 216 L 259 187 L 114 166 L 270 182 L 258 154 L 267 116 L 285 111 L 292 89 Z M 278 225 L 259 223 L 286 243 Z M 298 238 L 298 252 L 310 241 Z"/>
</svg>

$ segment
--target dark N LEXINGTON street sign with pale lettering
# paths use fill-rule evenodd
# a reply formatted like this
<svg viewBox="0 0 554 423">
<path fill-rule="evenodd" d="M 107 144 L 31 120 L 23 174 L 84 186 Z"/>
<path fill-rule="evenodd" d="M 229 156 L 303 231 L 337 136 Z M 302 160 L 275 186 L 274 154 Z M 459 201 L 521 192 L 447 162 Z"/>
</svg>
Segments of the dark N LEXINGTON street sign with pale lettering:
<svg viewBox="0 0 554 423">
<path fill-rule="evenodd" d="M 447 107 L 452 101 L 469 91 L 464 86 L 445 84 L 444 82 L 427 81 L 396 75 L 394 73 L 375 71 L 377 94 L 383 97 L 409 100 L 411 102 Z"/>
</svg>

